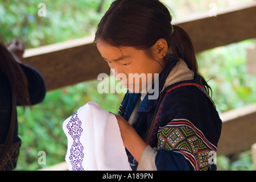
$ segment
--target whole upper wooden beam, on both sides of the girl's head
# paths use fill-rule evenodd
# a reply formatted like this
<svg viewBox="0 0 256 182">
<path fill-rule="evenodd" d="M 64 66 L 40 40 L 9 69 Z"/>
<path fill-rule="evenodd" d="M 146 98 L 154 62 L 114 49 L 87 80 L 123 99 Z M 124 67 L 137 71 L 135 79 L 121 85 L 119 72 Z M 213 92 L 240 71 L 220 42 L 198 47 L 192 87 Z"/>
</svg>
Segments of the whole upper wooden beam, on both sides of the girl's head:
<svg viewBox="0 0 256 182">
<path fill-rule="evenodd" d="M 217 16 L 204 16 L 189 22 L 178 22 L 192 39 L 195 51 L 224 46 L 241 40 L 256 38 L 256 3 L 228 10 Z M 38 69 L 47 90 L 95 79 L 100 73 L 110 73 L 93 42 L 81 38 L 26 50 L 24 64 Z"/>
</svg>

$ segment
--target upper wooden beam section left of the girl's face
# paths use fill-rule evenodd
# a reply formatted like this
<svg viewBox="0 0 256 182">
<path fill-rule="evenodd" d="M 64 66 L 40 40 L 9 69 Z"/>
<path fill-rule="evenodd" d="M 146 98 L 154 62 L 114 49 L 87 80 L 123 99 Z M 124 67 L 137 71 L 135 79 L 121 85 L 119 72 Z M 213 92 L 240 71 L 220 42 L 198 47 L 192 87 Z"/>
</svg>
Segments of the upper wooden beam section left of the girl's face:
<svg viewBox="0 0 256 182">
<path fill-rule="evenodd" d="M 26 50 L 23 63 L 42 73 L 47 90 L 53 90 L 110 73 L 93 38 L 82 38 Z"/>
</svg>

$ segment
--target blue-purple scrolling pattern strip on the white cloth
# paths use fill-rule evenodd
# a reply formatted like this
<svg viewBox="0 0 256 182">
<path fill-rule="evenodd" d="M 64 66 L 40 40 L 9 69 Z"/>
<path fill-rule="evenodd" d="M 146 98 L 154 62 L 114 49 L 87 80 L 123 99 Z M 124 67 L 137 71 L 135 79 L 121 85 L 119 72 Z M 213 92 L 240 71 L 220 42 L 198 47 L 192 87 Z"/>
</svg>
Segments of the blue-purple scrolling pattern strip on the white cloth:
<svg viewBox="0 0 256 182">
<path fill-rule="evenodd" d="M 82 160 L 84 159 L 84 146 L 80 143 L 80 137 L 82 134 L 81 128 L 82 122 L 79 117 L 77 117 L 77 111 L 71 116 L 68 122 L 67 129 L 68 134 L 71 135 L 73 139 L 73 144 L 70 149 L 69 160 L 72 164 L 72 171 L 84 171 L 82 167 Z"/>
</svg>

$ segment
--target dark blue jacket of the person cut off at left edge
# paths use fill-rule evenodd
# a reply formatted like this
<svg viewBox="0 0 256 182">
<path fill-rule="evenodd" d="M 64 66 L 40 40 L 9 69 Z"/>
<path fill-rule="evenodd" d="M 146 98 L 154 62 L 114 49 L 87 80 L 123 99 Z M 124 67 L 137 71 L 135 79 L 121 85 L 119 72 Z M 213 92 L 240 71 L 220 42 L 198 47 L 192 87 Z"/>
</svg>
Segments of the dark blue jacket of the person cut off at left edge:
<svg viewBox="0 0 256 182">
<path fill-rule="evenodd" d="M 42 75 L 28 65 L 20 64 L 28 81 L 28 92 L 30 94 L 30 103 L 32 105 L 42 102 L 46 95 L 46 85 Z M 11 118 L 11 88 L 8 78 L 0 70 L 0 144 L 5 142 L 9 130 Z M 16 103 L 19 105 L 19 103 Z M 16 117 L 13 142 L 17 142 L 18 122 Z"/>
</svg>

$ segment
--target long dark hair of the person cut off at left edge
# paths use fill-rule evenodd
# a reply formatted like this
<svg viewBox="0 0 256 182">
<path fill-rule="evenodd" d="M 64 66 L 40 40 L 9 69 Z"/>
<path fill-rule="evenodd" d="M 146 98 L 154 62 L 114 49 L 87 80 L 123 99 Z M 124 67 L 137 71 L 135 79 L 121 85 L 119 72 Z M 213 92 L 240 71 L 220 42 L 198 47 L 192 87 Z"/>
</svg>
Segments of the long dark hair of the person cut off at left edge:
<svg viewBox="0 0 256 182">
<path fill-rule="evenodd" d="M 10 82 L 11 90 L 14 92 L 19 105 L 30 105 L 27 88 L 27 78 L 7 48 L 0 43 L 0 70 L 6 75 Z"/>
</svg>

